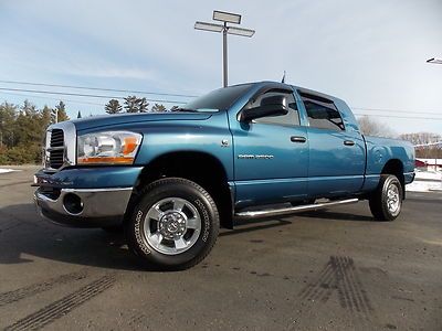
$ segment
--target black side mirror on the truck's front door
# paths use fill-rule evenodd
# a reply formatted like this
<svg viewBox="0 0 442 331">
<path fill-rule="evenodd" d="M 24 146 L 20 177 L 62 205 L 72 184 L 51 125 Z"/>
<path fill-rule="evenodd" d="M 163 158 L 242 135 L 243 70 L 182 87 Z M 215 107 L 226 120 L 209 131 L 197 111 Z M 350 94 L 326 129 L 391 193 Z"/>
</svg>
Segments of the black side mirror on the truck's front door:
<svg viewBox="0 0 442 331">
<path fill-rule="evenodd" d="M 281 116 L 287 113 L 287 98 L 284 95 L 275 95 L 263 98 L 260 107 L 243 109 L 240 115 L 240 120 L 252 121 L 255 118 Z"/>
</svg>

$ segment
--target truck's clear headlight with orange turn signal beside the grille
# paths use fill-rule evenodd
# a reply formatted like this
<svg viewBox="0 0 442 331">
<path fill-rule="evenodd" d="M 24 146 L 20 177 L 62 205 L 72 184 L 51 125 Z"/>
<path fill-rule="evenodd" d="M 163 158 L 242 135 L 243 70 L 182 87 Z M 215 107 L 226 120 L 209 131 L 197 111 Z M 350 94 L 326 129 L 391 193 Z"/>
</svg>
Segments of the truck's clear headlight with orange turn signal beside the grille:
<svg viewBox="0 0 442 331">
<path fill-rule="evenodd" d="M 141 135 L 105 131 L 78 136 L 77 164 L 133 164 Z"/>
</svg>

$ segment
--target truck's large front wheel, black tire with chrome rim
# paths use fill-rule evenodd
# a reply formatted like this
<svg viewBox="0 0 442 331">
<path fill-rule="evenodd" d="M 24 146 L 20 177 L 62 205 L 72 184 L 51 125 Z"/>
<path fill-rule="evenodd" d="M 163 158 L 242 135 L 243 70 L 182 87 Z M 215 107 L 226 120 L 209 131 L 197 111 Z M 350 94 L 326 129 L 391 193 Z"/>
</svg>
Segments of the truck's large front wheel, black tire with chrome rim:
<svg viewBox="0 0 442 331">
<path fill-rule="evenodd" d="M 220 227 L 210 194 L 192 181 L 167 178 L 150 183 L 140 195 L 125 232 L 141 263 L 155 269 L 182 270 L 204 259 Z"/>
</svg>

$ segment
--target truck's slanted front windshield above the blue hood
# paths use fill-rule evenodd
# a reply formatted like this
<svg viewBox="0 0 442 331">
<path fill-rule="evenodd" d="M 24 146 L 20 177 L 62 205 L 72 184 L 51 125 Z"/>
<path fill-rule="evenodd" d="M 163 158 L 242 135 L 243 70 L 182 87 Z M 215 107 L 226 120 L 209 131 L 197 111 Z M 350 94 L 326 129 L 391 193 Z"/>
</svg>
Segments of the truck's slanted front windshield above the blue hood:
<svg viewBox="0 0 442 331">
<path fill-rule="evenodd" d="M 219 88 L 180 107 L 182 111 L 220 111 L 229 109 L 252 84 Z"/>
</svg>

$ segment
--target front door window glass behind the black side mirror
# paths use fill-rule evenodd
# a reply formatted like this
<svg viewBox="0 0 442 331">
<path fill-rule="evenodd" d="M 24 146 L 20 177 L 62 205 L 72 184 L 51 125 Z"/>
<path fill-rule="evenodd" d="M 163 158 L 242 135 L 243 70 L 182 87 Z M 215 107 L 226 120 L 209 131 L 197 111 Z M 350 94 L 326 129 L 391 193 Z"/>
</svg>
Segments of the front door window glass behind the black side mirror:
<svg viewBox="0 0 442 331">
<path fill-rule="evenodd" d="M 298 126 L 299 125 L 299 115 L 297 111 L 297 106 L 296 106 L 296 100 L 291 93 L 281 93 L 281 92 L 275 92 L 275 90 L 270 90 L 266 92 L 262 95 L 260 95 L 253 103 L 250 103 L 248 107 L 254 108 L 259 107 L 261 105 L 261 100 L 263 97 L 270 97 L 270 96 L 275 96 L 275 95 L 285 95 L 287 98 L 287 105 L 288 105 L 288 113 L 286 115 L 282 116 L 269 116 L 269 117 L 262 117 L 262 118 L 256 118 L 253 120 L 253 122 L 261 122 L 261 124 L 271 124 L 271 125 L 278 125 L 278 126 Z"/>
</svg>

